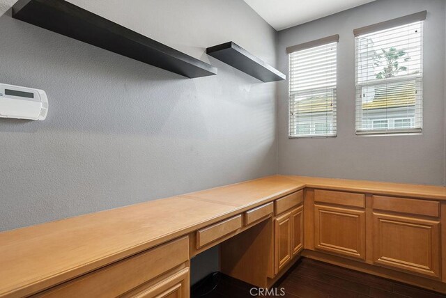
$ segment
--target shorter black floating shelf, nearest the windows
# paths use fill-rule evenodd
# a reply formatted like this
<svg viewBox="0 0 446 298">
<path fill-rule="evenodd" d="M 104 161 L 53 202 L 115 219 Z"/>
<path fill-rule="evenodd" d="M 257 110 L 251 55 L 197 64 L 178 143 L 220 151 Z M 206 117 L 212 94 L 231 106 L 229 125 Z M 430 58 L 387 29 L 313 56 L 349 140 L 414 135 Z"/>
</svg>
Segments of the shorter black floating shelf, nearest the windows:
<svg viewBox="0 0 446 298">
<path fill-rule="evenodd" d="M 208 47 L 206 53 L 261 81 L 282 81 L 286 76 L 233 42 Z"/>
</svg>

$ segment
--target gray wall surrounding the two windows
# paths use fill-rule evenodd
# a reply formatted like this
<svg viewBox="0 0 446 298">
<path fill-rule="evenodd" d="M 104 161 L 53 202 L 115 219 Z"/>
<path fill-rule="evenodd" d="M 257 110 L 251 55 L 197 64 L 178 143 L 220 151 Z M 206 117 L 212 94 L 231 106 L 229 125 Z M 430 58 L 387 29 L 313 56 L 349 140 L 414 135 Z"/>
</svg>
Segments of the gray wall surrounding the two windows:
<svg viewBox="0 0 446 298">
<path fill-rule="evenodd" d="M 445 180 L 444 0 L 378 0 L 279 31 L 279 70 L 288 73 L 285 48 L 339 34 L 337 137 L 288 139 L 288 82 L 279 83 L 280 174 L 443 185 Z M 424 24 L 424 132 L 411 136 L 355 136 L 353 29 L 427 10 Z"/>
</svg>

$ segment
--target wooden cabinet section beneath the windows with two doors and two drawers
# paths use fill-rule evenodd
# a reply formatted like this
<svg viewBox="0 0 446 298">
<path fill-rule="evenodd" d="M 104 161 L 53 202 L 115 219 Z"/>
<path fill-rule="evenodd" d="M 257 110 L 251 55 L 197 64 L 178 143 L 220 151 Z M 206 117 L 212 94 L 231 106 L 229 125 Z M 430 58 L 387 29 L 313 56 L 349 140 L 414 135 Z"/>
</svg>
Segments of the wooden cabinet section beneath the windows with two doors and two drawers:
<svg viewBox="0 0 446 298">
<path fill-rule="evenodd" d="M 366 204 L 365 194 L 321 189 L 307 193 L 311 206 L 306 207 L 314 210 L 314 219 L 306 223 L 314 225 L 308 228 L 314 230 L 314 251 L 441 278 L 438 201 L 368 195 Z"/>
</svg>

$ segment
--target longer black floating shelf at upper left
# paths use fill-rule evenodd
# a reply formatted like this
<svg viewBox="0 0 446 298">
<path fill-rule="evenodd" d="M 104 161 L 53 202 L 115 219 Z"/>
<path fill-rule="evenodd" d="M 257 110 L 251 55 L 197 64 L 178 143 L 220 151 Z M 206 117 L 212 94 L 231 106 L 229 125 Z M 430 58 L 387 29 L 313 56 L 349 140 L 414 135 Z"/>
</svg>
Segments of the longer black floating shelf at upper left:
<svg viewBox="0 0 446 298">
<path fill-rule="evenodd" d="M 189 78 L 217 68 L 64 0 L 19 0 L 13 17 Z"/>
</svg>

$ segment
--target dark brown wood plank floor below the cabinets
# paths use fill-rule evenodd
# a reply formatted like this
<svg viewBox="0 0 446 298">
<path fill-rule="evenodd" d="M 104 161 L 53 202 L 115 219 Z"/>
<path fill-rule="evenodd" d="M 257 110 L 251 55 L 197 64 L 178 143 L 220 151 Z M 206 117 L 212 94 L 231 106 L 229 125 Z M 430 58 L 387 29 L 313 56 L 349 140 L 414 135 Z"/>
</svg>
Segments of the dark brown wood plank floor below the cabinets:
<svg viewBox="0 0 446 298">
<path fill-rule="evenodd" d="M 217 287 L 212 290 L 213 282 Z M 214 283 L 215 285 L 215 283 Z M 245 298 L 252 285 L 232 279 L 224 274 L 217 274 L 213 281 L 192 288 L 192 298 Z M 446 297 L 412 285 L 390 281 L 378 276 L 356 272 L 308 258 L 301 258 L 289 272 L 279 280 L 275 288 L 277 295 L 256 295 L 254 297 L 289 297 L 289 298 L 439 298 Z M 284 289 L 284 296 L 280 296 Z M 212 290 L 212 291 L 211 291 Z M 258 290 L 252 292 L 257 294 Z M 203 295 L 205 294 L 205 295 Z"/>
</svg>

